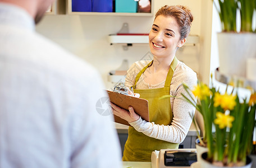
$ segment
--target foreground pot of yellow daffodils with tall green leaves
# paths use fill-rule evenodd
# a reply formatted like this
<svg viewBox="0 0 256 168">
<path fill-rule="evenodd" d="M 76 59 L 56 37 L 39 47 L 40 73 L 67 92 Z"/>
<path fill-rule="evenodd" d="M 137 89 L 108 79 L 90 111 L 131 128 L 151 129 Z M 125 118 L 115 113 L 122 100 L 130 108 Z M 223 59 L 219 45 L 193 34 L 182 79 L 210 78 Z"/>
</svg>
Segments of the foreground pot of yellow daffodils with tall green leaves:
<svg viewBox="0 0 256 168">
<path fill-rule="evenodd" d="M 221 94 L 216 87 L 198 83 L 194 90 L 183 84 L 189 97 L 182 95 L 203 115 L 208 152 L 203 153 L 201 167 L 246 166 L 253 147 L 256 93 L 250 99 L 239 99 L 235 87 Z M 213 85 L 212 85 L 213 86 Z M 193 95 L 198 97 L 194 101 Z M 213 134 L 214 132 L 214 134 Z M 250 167 L 251 165 L 247 165 Z"/>
</svg>

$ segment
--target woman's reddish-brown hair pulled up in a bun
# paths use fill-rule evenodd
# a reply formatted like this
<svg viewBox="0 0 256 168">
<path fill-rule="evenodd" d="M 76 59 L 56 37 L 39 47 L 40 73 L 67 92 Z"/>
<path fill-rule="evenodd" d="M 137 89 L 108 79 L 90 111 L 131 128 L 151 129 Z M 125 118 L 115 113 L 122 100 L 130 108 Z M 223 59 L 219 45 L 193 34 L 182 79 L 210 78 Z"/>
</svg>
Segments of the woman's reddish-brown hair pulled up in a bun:
<svg viewBox="0 0 256 168">
<path fill-rule="evenodd" d="M 193 15 L 191 11 L 182 5 L 177 6 L 163 6 L 160 8 L 154 19 L 157 18 L 157 16 L 163 15 L 163 16 L 171 16 L 174 17 L 177 23 L 180 26 L 180 39 L 185 39 L 190 32 L 191 22 L 193 21 Z"/>
</svg>

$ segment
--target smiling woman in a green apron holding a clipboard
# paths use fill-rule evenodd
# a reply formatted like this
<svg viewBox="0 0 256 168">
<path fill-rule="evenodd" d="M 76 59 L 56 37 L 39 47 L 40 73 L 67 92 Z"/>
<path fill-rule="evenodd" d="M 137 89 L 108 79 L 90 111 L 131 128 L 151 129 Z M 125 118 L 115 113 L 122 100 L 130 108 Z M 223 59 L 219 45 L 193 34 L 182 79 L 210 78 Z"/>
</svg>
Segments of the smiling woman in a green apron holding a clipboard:
<svg viewBox="0 0 256 168">
<path fill-rule="evenodd" d="M 164 95 L 187 95 L 182 83 L 196 85 L 196 73 L 180 62 L 176 50 L 186 42 L 193 16 L 184 6 L 164 6 L 156 13 L 149 33 L 153 60 L 139 60 L 126 75 L 126 87 L 149 102 L 149 122 L 133 108 L 129 111 L 112 105 L 113 113 L 127 120 L 129 136 L 124 161 L 150 161 L 152 151 L 178 148 L 190 128 L 195 108 L 180 99 L 159 99 Z"/>
</svg>

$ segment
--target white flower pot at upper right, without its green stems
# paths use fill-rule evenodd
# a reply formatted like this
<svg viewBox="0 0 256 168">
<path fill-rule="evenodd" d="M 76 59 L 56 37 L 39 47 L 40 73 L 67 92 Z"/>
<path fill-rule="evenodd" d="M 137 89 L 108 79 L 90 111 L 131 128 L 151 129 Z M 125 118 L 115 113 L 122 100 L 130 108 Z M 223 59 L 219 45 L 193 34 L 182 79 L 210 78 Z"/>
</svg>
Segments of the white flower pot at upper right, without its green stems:
<svg viewBox="0 0 256 168">
<path fill-rule="evenodd" d="M 217 38 L 220 73 L 245 78 L 246 60 L 256 58 L 256 33 L 220 32 Z"/>
</svg>

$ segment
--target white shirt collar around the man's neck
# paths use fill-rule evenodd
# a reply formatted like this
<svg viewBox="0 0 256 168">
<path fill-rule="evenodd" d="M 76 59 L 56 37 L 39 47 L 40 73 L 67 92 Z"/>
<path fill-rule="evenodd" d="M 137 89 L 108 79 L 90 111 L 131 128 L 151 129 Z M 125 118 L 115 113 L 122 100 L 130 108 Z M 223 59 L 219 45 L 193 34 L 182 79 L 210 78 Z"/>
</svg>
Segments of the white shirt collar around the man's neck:
<svg viewBox="0 0 256 168">
<path fill-rule="evenodd" d="M 23 8 L 8 3 L 0 3 L 0 25 L 11 25 L 35 31 L 33 17 Z"/>
</svg>

